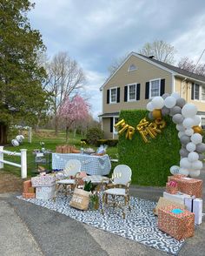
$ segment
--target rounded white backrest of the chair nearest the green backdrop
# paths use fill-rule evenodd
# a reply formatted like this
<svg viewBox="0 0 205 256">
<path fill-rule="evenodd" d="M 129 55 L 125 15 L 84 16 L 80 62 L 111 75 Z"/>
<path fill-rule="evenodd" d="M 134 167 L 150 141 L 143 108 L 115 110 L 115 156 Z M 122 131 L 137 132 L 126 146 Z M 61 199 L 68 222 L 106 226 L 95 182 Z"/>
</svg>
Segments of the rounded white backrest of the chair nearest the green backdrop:
<svg viewBox="0 0 205 256">
<path fill-rule="evenodd" d="M 131 181 L 132 171 L 128 165 L 116 165 L 113 171 L 113 183 L 127 185 Z"/>
</svg>

